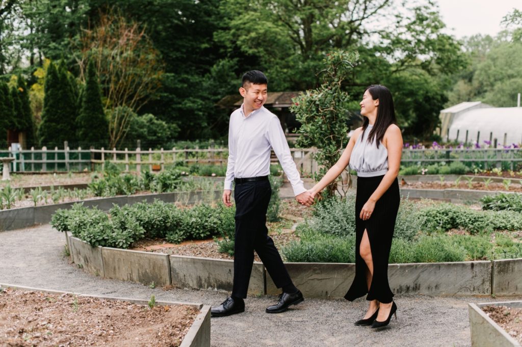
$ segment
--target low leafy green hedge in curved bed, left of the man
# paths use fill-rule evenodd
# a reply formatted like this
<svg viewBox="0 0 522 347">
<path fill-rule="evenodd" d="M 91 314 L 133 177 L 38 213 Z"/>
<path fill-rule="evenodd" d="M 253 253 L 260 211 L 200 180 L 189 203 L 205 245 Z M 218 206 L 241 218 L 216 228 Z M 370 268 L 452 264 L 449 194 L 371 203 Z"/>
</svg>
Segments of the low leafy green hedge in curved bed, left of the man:
<svg viewBox="0 0 522 347">
<path fill-rule="evenodd" d="M 57 210 L 51 225 L 58 231 L 70 231 L 93 247 L 128 248 L 144 237 L 166 238 L 168 242 L 179 243 L 233 234 L 234 212 L 234 208 L 222 204 L 180 209 L 155 200 L 152 204 L 114 205 L 107 214 L 97 208 L 75 204 L 68 210 Z"/>
</svg>

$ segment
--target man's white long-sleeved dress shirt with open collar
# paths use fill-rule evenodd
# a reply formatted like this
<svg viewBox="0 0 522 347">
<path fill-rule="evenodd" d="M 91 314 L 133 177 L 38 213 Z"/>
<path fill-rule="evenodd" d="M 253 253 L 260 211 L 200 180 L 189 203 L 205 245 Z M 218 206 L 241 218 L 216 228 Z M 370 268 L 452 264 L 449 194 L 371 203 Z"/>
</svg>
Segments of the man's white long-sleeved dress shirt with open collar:
<svg viewBox="0 0 522 347">
<path fill-rule="evenodd" d="M 230 115 L 229 157 L 224 189 L 232 189 L 235 177 L 269 175 L 272 148 L 292 185 L 294 195 L 306 192 L 279 118 L 264 106 L 245 117 L 243 105 Z"/>
</svg>

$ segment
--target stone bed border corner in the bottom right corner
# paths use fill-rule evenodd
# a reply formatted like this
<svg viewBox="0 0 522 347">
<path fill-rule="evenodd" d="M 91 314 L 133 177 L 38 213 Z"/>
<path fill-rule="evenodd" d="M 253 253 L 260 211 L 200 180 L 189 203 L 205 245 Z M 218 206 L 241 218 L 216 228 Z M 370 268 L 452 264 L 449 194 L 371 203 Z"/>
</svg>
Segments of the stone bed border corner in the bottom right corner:
<svg viewBox="0 0 522 347">
<path fill-rule="evenodd" d="M 482 310 L 484 306 L 522 307 L 522 301 L 468 304 L 471 347 L 521 347 Z"/>
</svg>

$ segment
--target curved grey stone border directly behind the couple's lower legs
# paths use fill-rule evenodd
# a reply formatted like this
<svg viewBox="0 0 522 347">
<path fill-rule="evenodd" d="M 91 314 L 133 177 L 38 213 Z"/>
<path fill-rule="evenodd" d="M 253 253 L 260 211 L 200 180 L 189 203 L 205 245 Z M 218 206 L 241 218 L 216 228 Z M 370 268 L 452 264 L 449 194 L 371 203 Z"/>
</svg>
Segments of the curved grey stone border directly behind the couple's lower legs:
<svg viewBox="0 0 522 347">
<path fill-rule="evenodd" d="M 110 247 L 91 247 L 67 233 L 70 257 L 95 276 L 176 288 L 231 291 L 233 260 L 175 256 Z M 287 262 L 294 283 L 307 297 L 341 298 L 355 275 L 354 264 Z M 390 264 L 390 287 L 396 294 L 520 295 L 522 258 Z M 255 262 L 248 294 L 280 293 L 260 262 Z"/>
</svg>

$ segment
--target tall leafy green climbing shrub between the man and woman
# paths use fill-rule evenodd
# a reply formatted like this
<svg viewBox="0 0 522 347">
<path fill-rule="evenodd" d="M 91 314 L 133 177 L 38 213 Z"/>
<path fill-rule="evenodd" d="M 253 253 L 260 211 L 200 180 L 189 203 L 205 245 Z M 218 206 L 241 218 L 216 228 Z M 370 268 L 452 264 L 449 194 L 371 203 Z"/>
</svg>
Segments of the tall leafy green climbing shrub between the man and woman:
<svg viewBox="0 0 522 347">
<path fill-rule="evenodd" d="M 319 167 L 314 178 L 319 179 L 339 159 L 346 147 L 350 95 L 342 88 L 343 81 L 350 78 L 358 53 L 335 51 L 324 59 L 323 83 L 316 89 L 307 90 L 292 99 L 290 111 L 301 122 L 298 130 L 299 147 L 317 147 L 314 159 Z M 337 183 L 333 182 L 325 190 L 325 196 L 334 196 Z"/>
</svg>

